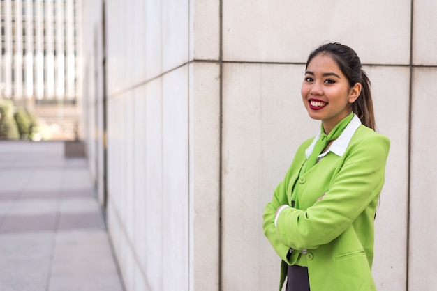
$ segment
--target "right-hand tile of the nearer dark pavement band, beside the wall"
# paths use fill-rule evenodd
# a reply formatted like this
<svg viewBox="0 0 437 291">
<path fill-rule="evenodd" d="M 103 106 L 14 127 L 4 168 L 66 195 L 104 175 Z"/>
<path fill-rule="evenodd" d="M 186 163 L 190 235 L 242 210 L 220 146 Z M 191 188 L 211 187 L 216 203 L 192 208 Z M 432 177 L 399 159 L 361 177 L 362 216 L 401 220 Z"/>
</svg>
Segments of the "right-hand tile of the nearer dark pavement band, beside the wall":
<svg viewBox="0 0 437 291">
<path fill-rule="evenodd" d="M 59 230 L 80 228 L 104 229 L 103 219 L 99 212 L 61 213 L 59 214 Z"/>
</svg>

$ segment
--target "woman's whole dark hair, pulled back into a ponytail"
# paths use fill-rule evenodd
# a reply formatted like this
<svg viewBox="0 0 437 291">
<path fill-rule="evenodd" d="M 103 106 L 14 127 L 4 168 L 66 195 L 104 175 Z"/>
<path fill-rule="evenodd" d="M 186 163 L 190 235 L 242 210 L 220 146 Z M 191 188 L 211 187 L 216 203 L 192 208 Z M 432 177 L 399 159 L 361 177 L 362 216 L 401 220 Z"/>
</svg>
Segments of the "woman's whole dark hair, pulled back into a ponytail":
<svg viewBox="0 0 437 291">
<path fill-rule="evenodd" d="M 311 52 L 308 61 L 306 61 L 306 68 L 308 68 L 311 60 L 318 54 L 329 54 L 332 56 L 332 59 L 337 63 L 341 72 L 348 79 L 350 87 L 353 87 L 357 83 L 362 85 L 360 96 L 352 104 L 352 111 L 357 114 L 363 125 L 375 130 L 376 124 L 373 114 L 370 80 L 366 72 L 362 70 L 361 61 L 357 53 L 350 47 L 341 45 L 339 42 L 327 43 Z"/>
</svg>

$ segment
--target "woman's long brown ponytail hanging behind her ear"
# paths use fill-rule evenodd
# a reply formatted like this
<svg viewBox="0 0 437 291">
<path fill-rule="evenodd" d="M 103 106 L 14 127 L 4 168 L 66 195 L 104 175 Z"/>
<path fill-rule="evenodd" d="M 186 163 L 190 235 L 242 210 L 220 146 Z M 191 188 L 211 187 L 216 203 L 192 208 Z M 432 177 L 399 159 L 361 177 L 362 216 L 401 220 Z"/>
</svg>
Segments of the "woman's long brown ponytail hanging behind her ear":
<svg viewBox="0 0 437 291">
<path fill-rule="evenodd" d="M 375 115 L 373 114 L 372 94 L 370 90 L 370 80 L 366 72 L 361 70 L 362 89 L 360 96 L 352 104 L 352 111 L 360 118 L 363 125 L 375 130 Z"/>
</svg>

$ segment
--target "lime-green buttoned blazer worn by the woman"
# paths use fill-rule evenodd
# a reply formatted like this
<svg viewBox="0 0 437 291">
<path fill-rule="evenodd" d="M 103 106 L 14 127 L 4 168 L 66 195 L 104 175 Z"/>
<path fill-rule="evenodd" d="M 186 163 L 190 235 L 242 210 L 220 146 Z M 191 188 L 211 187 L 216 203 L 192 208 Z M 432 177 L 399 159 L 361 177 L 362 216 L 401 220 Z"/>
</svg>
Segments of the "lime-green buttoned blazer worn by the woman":
<svg viewBox="0 0 437 291">
<path fill-rule="evenodd" d="M 265 236 L 282 259 L 279 290 L 286 279 L 287 264 L 294 265 L 304 249 L 311 291 L 376 290 L 371 274 L 373 221 L 390 141 L 360 125 L 341 157 L 328 152 L 299 178 L 311 141 L 297 150 L 263 214 Z M 299 209 L 282 210 L 275 227 L 276 209 L 293 205 L 295 183 L 299 183 Z"/>
</svg>

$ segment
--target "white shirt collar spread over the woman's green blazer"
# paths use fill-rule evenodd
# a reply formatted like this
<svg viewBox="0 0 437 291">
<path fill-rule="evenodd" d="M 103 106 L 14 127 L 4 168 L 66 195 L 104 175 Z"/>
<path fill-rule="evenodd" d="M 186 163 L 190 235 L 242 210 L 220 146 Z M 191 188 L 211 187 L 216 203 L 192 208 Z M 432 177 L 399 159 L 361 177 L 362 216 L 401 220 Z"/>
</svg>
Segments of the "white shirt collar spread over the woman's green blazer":
<svg viewBox="0 0 437 291">
<path fill-rule="evenodd" d="M 348 148 L 350 139 L 352 139 L 353 134 L 355 131 L 360 127 L 361 120 L 356 116 L 353 115 L 352 120 L 350 120 L 350 123 L 346 126 L 346 128 L 341 132 L 338 139 L 332 142 L 332 145 L 329 147 L 329 150 L 326 152 L 323 152 L 318 157 L 325 157 L 328 152 L 334 152 L 334 154 L 338 155 L 339 157 L 342 157 L 344 152 L 346 152 L 346 148 Z M 314 146 L 316 145 L 316 141 L 318 141 L 320 137 L 320 132 L 316 135 L 316 137 L 313 139 L 313 142 L 309 147 L 305 150 L 306 159 L 309 158 L 311 155 L 311 152 L 313 152 Z"/>
</svg>

